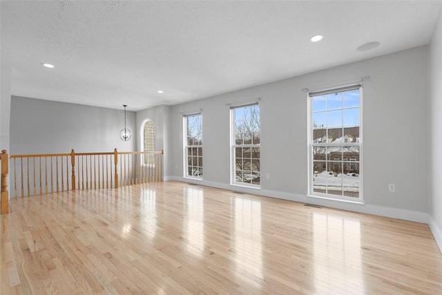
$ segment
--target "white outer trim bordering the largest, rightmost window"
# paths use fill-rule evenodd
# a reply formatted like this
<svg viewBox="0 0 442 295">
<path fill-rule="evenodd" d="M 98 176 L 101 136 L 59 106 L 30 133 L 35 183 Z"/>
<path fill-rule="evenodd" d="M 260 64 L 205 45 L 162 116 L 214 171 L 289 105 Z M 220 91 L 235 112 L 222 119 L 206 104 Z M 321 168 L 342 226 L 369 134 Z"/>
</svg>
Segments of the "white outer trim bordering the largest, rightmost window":
<svg viewBox="0 0 442 295">
<path fill-rule="evenodd" d="M 352 85 L 347 85 L 351 87 Z M 334 90 L 339 92 L 339 88 L 345 88 L 347 86 L 340 86 L 336 88 L 327 88 L 324 91 L 330 91 L 333 93 Z M 313 116 L 312 116 L 312 99 L 310 97 L 311 93 L 307 93 L 307 114 L 308 114 L 308 124 L 307 124 L 307 197 L 309 198 L 320 198 L 325 200 L 336 200 L 340 202 L 349 202 L 356 204 L 364 204 L 363 199 L 363 84 L 359 84 L 359 139 L 356 142 L 343 142 L 342 144 L 334 144 L 336 146 L 359 146 L 359 197 L 348 197 L 348 196 L 335 196 L 327 193 L 314 193 L 313 192 L 313 145 L 311 144 L 313 137 Z M 345 108 L 343 108 L 345 109 Z M 325 146 L 327 144 L 324 144 Z M 343 162 L 343 161 L 342 161 Z M 349 161 L 348 161 L 349 162 Z"/>
</svg>

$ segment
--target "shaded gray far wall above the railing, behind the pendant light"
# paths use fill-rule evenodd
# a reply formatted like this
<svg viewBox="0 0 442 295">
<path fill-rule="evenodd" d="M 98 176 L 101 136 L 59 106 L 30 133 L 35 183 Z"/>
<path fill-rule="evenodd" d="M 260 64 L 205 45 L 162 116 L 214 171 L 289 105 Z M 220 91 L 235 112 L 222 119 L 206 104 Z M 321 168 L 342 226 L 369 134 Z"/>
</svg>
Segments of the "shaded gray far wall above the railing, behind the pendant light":
<svg viewBox="0 0 442 295">
<path fill-rule="evenodd" d="M 12 96 L 10 154 L 135 151 L 135 112 L 127 111 L 132 138 L 123 142 L 124 111 Z"/>
</svg>

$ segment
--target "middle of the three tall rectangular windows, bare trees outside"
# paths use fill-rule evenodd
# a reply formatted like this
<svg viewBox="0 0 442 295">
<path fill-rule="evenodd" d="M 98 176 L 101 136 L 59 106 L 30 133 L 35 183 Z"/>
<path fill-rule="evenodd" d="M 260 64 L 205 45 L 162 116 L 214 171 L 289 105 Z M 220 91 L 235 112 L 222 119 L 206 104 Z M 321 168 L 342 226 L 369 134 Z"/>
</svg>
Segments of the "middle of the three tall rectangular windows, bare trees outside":
<svg viewBox="0 0 442 295">
<path fill-rule="evenodd" d="M 260 106 L 231 108 L 231 182 L 260 186 Z"/>
</svg>

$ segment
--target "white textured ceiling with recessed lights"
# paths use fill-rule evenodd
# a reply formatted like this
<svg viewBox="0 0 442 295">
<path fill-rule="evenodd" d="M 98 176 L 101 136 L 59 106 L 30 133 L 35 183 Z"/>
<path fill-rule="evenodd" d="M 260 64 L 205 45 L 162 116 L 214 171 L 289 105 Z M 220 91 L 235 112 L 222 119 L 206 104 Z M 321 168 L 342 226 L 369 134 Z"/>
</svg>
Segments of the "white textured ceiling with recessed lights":
<svg viewBox="0 0 442 295">
<path fill-rule="evenodd" d="M 1 62 L 12 95 L 137 111 L 428 44 L 441 3 L 1 1 Z"/>
</svg>

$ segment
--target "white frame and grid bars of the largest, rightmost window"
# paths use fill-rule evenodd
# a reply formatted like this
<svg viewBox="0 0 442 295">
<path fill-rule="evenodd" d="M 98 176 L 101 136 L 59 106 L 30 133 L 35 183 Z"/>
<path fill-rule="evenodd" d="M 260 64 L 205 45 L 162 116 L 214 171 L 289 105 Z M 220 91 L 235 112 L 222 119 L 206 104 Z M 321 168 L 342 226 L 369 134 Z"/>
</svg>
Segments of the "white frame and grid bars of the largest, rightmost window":
<svg viewBox="0 0 442 295">
<path fill-rule="evenodd" d="M 312 99 L 312 97 L 316 97 L 318 95 L 325 95 L 325 94 L 333 94 L 333 93 L 343 93 L 345 91 L 351 91 L 351 90 L 359 90 L 359 103 L 357 108 L 359 109 L 359 122 L 358 122 L 358 128 L 359 128 L 359 137 L 355 140 L 355 142 L 348 142 L 348 140 L 345 140 L 345 133 L 342 134 L 342 142 L 337 143 L 337 142 L 327 142 L 327 140 L 320 140 L 318 142 L 314 142 L 314 110 L 313 110 L 313 101 L 314 99 Z M 354 202 L 354 203 L 358 203 L 358 204 L 363 204 L 363 85 L 362 84 L 353 84 L 353 85 L 348 85 L 348 86 L 342 86 L 342 87 L 336 87 L 336 88 L 329 88 L 329 89 L 325 89 L 323 91 L 316 91 L 316 92 L 309 92 L 307 93 L 307 106 L 308 106 L 308 137 L 307 137 L 307 144 L 308 144 L 308 174 L 307 174 L 307 179 L 308 179 L 308 187 L 307 187 L 307 196 L 309 197 L 313 197 L 313 198 L 325 198 L 325 199 L 329 199 L 329 200 L 338 200 L 338 201 L 343 201 L 343 202 Z M 343 104 L 341 105 L 340 108 L 325 108 L 325 112 L 329 112 L 330 110 L 332 111 L 336 111 L 336 110 L 340 110 L 340 111 L 345 111 L 346 109 L 350 109 L 350 108 L 356 108 L 355 106 L 352 107 L 345 107 L 343 106 Z M 321 111 L 318 111 L 318 113 L 320 113 Z M 342 124 L 336 128 L 342 128 L 343 131 L 345 130 L 345 128 L 348 128 L 348 126 L 345 126 L 343 123 L 343 119 L 341 117 L 341 122 Z M 327 139 L 327 135 L 325 135 L 326 139 Z M 358 161 L 349 161 L 350 155 L 348 156 L 344 156 L 343 153 L 341 153 L 341 160 L 339 161 L 340 163 L 340 170 L 341 173 L 343 173 L 343 171 L 345 170 L 345 167 L 351 169 L 352 168 L 352 164 L 356 164 L 359 167 L 359 172 L 358 172 L 358 181 L 359 181 L 359 191 L 358 191 L 358 197 L 353 197 L 353 196 L 345 196 L 345 191 L 344 191 L 344 186 L 343 186 L 343 182 L 342 183 L 342 189 L 343 189 L 343 194 L 342 195 L 335 195 L 332 193 L 320 193 L 320 192 L 315 192 L 314 191 L 314 147 L 318 146 L 318 147 L 323 147 L 327 149 L 327 146 L 338 146 L 340 147 L 341 151 L 343 151 L 344 148 L 351 148 L 352 146 L 357 146 L 358 150 L 359 150 L 359 160 Z M 331 155 L 330 155 L 331 156 Z M 347 158 L 348 157 L 348 158 Z M 352 157 L 353 158 L 353 157 Z M 333 158 L 334 159 L 334 158 Z M 316 160 L 316 162 L 318 162 Z M 332 167 L 334 167 L 334 163 L 335 160 L 324 160 L 324 161 L 320 161 L 320 162 L 325 162 L 326 164 L 326 171 L 328 171 L 327 169 L 327 162 L 329 162 Z M 332 164 L 333 163 L 333 164 Z M 357 167 L 357 166 L 356 166 Z M 344 176 L 344 175 L 343 175 Z"/>
</svg>

